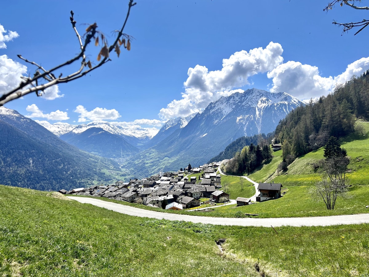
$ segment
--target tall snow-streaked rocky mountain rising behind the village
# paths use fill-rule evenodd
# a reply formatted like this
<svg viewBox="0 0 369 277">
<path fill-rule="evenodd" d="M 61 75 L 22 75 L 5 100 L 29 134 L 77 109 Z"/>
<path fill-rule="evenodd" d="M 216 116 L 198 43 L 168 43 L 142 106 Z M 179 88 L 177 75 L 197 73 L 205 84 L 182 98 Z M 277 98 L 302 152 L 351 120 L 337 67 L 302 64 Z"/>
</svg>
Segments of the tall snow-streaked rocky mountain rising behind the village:
<svg viewBox="0 0 369 277">
<path fill-rule="evenodd" d="M 204 164 L 239 137 L 274 131 L 279 121 L 300 105 L 305 104 L 287 93 L 259 89 L 222 97 L 183 128 L 131 157 L 123 167 L 145 176 L 189 163 Z"/>
</svg>

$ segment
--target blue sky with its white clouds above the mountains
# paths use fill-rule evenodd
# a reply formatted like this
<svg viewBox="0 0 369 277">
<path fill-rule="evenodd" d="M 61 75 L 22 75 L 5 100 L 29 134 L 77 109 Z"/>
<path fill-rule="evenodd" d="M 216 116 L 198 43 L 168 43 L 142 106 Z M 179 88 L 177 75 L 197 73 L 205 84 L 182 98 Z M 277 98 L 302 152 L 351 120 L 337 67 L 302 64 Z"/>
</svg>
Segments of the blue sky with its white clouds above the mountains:
<svg viewBox="0 0 369 277">
<path fill-rule="evenodd" d="M 107 120 L 160 128 L 169 118 L 198 112 L 248 88 L 299 99 L 327 95 L 336 83 L 369 69 L 369 29 L 354 36 L 355 31 L 342 34 L 332 24 L 360 21 L 368 11 L 344 5 L 326 13 L 327 3 L 138 0 L 124 30 L 135 38 L 131 51 L 112 55 L 111 62 L 53 88 L 45 98 L 27 95 L 5 106 L 50 123 Z M 96 22 L 111 42 L 128 0 L 15 0 L 1 7 L 0 94 L 18 83 L 20 74 L 35 71 L 17 54 L 50 68 L 77 53 L 70 10 L 80 34 L 87 27 L 83 23 Z M 98 52 L 91 45 L 87 54 L 96 61 Z"/>
</svg>

